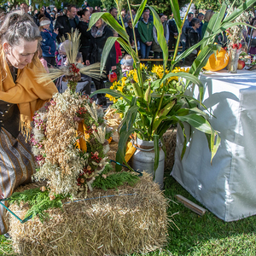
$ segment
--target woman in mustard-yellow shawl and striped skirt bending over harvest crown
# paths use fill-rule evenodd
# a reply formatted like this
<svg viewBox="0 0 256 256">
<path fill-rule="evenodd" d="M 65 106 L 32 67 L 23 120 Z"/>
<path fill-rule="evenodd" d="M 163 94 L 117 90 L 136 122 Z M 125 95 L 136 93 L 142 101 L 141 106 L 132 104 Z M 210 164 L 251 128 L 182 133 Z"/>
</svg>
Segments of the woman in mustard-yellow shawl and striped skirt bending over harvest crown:
<svg viewBox="0 0 256 256">
<path fill-rule="evenodd" d="M 0 20 L 0 187 L 8 198 L 21 184 L 31 182 L 36 172 L 31 146 L 27 143 L 32 116 L 57 92 L 38 59 L 41 35 L 38 26 L 23 11 L 12 11 Z M 5 209 L 0 207 L 0 233 L 8 231 Z"/>
</svg>

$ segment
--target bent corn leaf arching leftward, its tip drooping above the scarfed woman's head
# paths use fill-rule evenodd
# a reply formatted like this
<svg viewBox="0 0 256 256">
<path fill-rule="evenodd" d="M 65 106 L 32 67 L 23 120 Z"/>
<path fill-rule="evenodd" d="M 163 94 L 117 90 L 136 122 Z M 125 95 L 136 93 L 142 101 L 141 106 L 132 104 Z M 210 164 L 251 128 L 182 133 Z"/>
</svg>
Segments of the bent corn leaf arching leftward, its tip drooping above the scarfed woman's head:
<svg viewBox="0 0 256 256">
<path fill-rule="evenodd" d="M 115 20 L 109 13 L 101 12 L 92 14 L 90 17 L 88 30 L 90 30 L 91 27 L 96 24 L 96 21 L 101 18 L 108 24 L 108 26 L 111 26 L 114 31 L 118 32 L 122 38 L 124 38 L 127 42 L 129 41 L 129 36 L 127 35 L 125 29 L 120 26 L 117 20 Z"/>
</svg>

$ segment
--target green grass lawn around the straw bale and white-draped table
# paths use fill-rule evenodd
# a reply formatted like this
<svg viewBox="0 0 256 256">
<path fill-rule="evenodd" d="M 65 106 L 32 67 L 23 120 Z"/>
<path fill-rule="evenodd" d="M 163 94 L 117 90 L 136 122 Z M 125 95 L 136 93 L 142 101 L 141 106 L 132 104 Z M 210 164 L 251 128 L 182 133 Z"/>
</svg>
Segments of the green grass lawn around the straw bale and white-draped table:
<svg viewBox="0 0 256 256">
<path fill-rule="evenodd" d="M 175 195 L 183 195 L 196 204 L 196 201 L 182 186 L 166 173 L 165 194 L 172 201 L 177 202 Z M 181 203 L 170 201 L 168 215 L 172 216 L 169 228 L 168 244 L 160 251 L 147 253 L 148 256 L 186 255 L 256 255 L 256 216 L 244 218 L 239 221 L 225 223 L 206 212 L 202 217 L 190 211 Z M 0 236 L 0 255 L 13 255 L 11 241 Z M 141 254 L 134 253 L 133 256 Z"/>
</svg>

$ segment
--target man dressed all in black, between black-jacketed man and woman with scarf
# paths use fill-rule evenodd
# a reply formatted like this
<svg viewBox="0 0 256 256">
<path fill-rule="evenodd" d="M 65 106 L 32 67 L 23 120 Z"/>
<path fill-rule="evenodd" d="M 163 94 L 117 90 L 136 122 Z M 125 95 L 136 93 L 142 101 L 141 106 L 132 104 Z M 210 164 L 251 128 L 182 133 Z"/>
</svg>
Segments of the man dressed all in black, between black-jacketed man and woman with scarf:
<svg viewBox="0 0 256 256">
<path fill-rule="evenodd" d="M 90 31 L 87 31 L 90 20 L 90 11 L 88 9 L 82 9 L 80 15 L 81 19 L 79 21 L 78 29 L 81 33 L 81 47 L 79 51 L 82 53 L 83 60 L 85 61 L 90 47 Z"/>
</svg>

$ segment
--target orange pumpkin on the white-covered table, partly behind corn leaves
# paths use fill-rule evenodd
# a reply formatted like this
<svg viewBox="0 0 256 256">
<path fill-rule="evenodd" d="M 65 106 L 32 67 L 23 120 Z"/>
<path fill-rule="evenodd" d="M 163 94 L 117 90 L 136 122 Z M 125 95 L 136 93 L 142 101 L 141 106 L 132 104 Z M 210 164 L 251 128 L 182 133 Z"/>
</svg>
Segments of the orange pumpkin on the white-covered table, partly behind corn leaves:
<svg viewBox="0 0 256 256">
<path fill-rule="evenodd" d="M 220 49 L 217 51 L 217 55 L 214 53 L 209 57 L 207 61 L 207 65 L 204 69 L 208 71 L 218 71 L 224 69 L 224 67 L 228 66 L 229 63 L 229 54 L 225 49 Z"/>
</svg>

